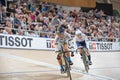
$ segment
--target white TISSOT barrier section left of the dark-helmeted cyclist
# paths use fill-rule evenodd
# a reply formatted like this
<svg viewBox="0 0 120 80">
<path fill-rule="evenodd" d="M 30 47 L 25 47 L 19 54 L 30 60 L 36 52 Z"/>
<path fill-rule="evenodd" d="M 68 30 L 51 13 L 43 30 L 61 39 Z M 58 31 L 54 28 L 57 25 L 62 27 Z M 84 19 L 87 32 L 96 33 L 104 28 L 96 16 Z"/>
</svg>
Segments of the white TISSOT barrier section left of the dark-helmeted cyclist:
<svg viewBox="0 0 120 80">
<path fill-rule="evenodd" d="M 54 50 L 54 40 L 49 38 L 0 34 L 0 47 Z"/>
</svg>

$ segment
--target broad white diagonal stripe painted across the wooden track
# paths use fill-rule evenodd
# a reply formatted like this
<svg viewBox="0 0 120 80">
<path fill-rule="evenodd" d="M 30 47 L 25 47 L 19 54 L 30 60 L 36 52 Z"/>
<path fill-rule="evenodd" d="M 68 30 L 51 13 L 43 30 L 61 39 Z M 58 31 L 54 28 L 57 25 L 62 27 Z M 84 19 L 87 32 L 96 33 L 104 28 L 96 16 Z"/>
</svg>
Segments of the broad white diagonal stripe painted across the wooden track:
<svg viewBox="0 0 120 80">
<path fill-rule="evenodd" d="M 19 57 L 19 56 L 11 55 L 11 54 L 8 54 L 8 53 L 0 53 L 0 56 L 5 56 L 7 58 L 11 58 L 11 59 L 15 59 L 15 60 L 19 60 L 19 61 L 23 61 L 23 62 L 27 62 L 27 63 L 32 63 L 32 64 L 36 64 L 36 65 L 46 66 L 46 67 L 50 67 L 50 68 L 54 68 L 54 69 L 59 69 L 59 66 L 56 66 L 56 65 L 53 65 L 53 64 L 32 60 L 32 59 L 29 59 L 29 58 Z M 78 69 L 72 69 L 72 72 L 76 73 L 76 74 L 83 74 L 83 75 L 91 76 L 91 77 L 96 78 L 97 80 L 114 80 L 114 79 L 112 79 L 110 77 L 106 77 L 106 76 L 80 72 Z M 77 80 L 79 80 L 79 79 L 77 79 Z"/>
</svg>

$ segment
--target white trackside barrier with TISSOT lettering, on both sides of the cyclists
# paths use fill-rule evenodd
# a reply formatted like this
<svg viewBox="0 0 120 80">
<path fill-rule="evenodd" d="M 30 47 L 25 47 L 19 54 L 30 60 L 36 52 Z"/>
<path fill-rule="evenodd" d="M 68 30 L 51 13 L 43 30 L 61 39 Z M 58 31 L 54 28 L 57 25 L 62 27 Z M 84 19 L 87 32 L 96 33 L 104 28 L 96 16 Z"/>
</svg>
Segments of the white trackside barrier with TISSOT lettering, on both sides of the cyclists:
<svg viewBox="0 0 120 80">
<path fill-rule="evenodd" d="M 75 45 L 75 44 L 73 44 Z M 120 42 L 87 41 L 90 51 L 120 51 Z M 0 34 L 0 48 L 54 50 L 54 39 Z"/>
</svg>

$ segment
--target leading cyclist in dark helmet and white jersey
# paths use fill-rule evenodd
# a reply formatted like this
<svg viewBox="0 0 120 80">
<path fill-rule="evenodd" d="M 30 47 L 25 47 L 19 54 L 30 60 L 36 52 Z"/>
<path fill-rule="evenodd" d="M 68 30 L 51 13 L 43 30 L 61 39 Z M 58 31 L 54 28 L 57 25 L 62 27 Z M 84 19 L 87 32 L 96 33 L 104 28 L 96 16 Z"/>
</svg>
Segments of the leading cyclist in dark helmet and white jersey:
<svg viewBox="0 0 120 80">
<path fill-rule="evenodd" d="M 73 62 L 71 61 L 71 55 L 68 51 L 68 41 L 71 40 L 71 35 L 65 31 L 66 26 L 60 25 L 56 27 L 56 36 L 55 36 L 55 52 L 57 53 L 57 60 L 60 65 L 61 73 L 64 73 L 64 65 L 62 61 L 62 52 L 61 52 L 61 45 L 66 51 L 66 57 L 70 65 L 73 65 Z"/>
</svg>

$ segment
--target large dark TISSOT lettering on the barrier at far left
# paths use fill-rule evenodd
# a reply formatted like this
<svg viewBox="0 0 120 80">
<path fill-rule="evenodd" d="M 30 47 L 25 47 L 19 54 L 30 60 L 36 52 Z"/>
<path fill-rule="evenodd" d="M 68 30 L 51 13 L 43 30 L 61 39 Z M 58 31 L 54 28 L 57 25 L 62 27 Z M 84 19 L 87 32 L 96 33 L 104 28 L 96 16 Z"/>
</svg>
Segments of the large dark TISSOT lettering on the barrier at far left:
<svg viewBox="0 0 120 80">
<path fill-rule="evenodd" d="M 0 35 L 0 46 L 31 47 L 32 41 L 32 38 Z"/>
</svg>

